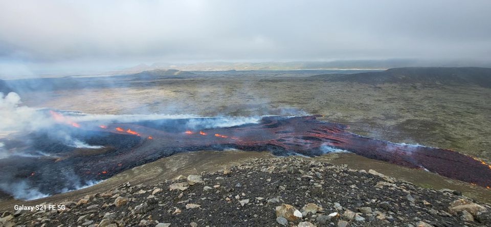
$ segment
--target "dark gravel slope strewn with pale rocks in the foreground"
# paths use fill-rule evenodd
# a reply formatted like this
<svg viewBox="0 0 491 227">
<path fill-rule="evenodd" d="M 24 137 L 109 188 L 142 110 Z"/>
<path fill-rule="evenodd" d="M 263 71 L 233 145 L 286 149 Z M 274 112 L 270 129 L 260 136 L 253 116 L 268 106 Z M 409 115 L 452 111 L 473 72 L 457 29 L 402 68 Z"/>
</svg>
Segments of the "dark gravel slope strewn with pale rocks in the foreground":
<svg viewBox="0 0 491 227">
<path fill-rule="evenodd" d="M 43 205 L 55 210 L 7 211 L 0 226 L 491 226 L 491 206 L 458 191 L 304 157 Z"/>
</svg>

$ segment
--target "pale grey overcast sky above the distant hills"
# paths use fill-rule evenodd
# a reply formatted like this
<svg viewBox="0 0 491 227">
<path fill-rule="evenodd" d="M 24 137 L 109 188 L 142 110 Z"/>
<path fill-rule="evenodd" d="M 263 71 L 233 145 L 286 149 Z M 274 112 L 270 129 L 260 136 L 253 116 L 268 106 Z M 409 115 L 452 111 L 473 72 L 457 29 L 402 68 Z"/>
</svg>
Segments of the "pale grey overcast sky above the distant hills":
<svg viewBox="0 0 491 227">
<path fill-rule="evenodd" d="M 0 74 L 152 62 L 491 60 L 491 1 L 0 1 Z"/>
</svg>

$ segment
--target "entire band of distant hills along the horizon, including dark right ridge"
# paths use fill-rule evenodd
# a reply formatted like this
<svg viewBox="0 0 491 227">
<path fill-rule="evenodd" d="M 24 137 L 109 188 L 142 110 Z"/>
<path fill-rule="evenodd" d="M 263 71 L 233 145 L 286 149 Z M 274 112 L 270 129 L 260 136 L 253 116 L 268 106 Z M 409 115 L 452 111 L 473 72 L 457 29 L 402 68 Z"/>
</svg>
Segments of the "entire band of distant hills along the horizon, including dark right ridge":
<svg viewBox="0 0 491 227">
<path fill-rule="evenodd" d="M 323 74 L 305 76 L 305 70 L 295 71 L 302 80 L 351 83 L 421 83 L 434 85 L 481 86 L 491 88 L 491 68 L 483 67 L 403 67 L 388 69 L 380 72 L 355 74 Z M 220 73 L 216 73 L 219 75 Z M 283 80 L 285 78 L 269 77 L 268 73 L 260 71 L 229 71 L 227 76 L 237 78 L 243 75 L 264 76 L 266 79 Z M 310 74 L 312 75 L 312 74 Z M 185 72 L 178 70 L 149 70 L 135 74 L 120 74 L 103 77 L 62 77 L 0 80 L 0 92 L 7 94 L 11 91 L 22 92 L 29 90 L 77 89 L 88 87 L 127 87 L 130 83 L 139 82 L 142 85 L 152 85 L 155 80 L 186 79 L 190 77 L 213 77 L 214 73 Z M 292 76 L 293 77 L 293 76 Z M 289 77 L 289 78 L 292 78 Z"/>
</svg>

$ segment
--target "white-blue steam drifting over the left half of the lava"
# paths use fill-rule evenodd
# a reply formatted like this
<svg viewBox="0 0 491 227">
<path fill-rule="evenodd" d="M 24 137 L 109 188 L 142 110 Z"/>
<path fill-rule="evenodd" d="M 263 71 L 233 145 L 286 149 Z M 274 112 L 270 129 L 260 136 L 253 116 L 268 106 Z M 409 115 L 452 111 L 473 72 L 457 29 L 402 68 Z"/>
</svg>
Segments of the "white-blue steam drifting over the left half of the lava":
<svg viewBox="0 0 491 227">
<path fill-rule="evenodd" d="M 49 135 L 50 139 L 58 140 L 66 146 L 89 149 L 99 149 L 102 148 L 102 146 L 92 146 L 84 141 L 75 139 L 71 135 L 70 129 L 72 127 L 90 129 L 91 127 L 98 127 L 99 124 L 188 119 L 184 122 L 184 126 L 189 129 L 197 129 L 232 127 L 242 124 L 258 123 L 263 117 L 200 117 L 197 115 L 161 114 L 91 115 L 79 111 L 31 108 L 21 104 L 20 97 L 16 93 L 9 93 L 6 96 L 0 93 L 0 134 L 2 136 L 9 136 L 9 133 L 12 132 L 15 132 L 16 134 L 42 132 Z M 23 140 L 29 141 L 29 138 Z M 0 160 L 9 162 L 8 158 L 15 158 L 16 156 L 28 158 L 41 158 L 43 156 L 55 157 L 53 154 L 46 154 L 37 150 L 20 152 L 17 151 L 16 148 L 9 147 L 8 144 L 5 143 L 7 141 L 8 140 L 3 140 L 3 138 L 0 137 Z M 15 199 L 31 200 L 49 196 L 49 194 L 40 192 L 36 186 L 31 185 L 28 179 L 19 179 L 18 177 L 15 177 L 14 174 L 15 173 L 7 172 L 0 176 L 0 190 L 9 193 Z M 64 173 L 63 178 L 66 181 L 66 185 L 57 193 L 90 187 L 100 182 L 93 180 L 84 181 L 73 171 Z"/>
</svg>

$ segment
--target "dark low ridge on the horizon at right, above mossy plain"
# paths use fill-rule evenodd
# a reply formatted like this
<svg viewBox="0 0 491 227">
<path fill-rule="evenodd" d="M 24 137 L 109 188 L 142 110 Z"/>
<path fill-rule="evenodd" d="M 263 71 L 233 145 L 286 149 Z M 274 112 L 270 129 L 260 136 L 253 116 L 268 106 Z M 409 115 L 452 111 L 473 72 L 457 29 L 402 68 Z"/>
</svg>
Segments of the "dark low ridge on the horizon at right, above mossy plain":
<svg viewBox="0 0 491 227">
<path fill-rule="evenodd" d="M 422 83 L 491 87 L 491 69 L 482 67 L 404 67 L 382 72 L 325 74 L 310 78 L 323 78 L 332 82 L 369 84 Z"/>
</svg>

